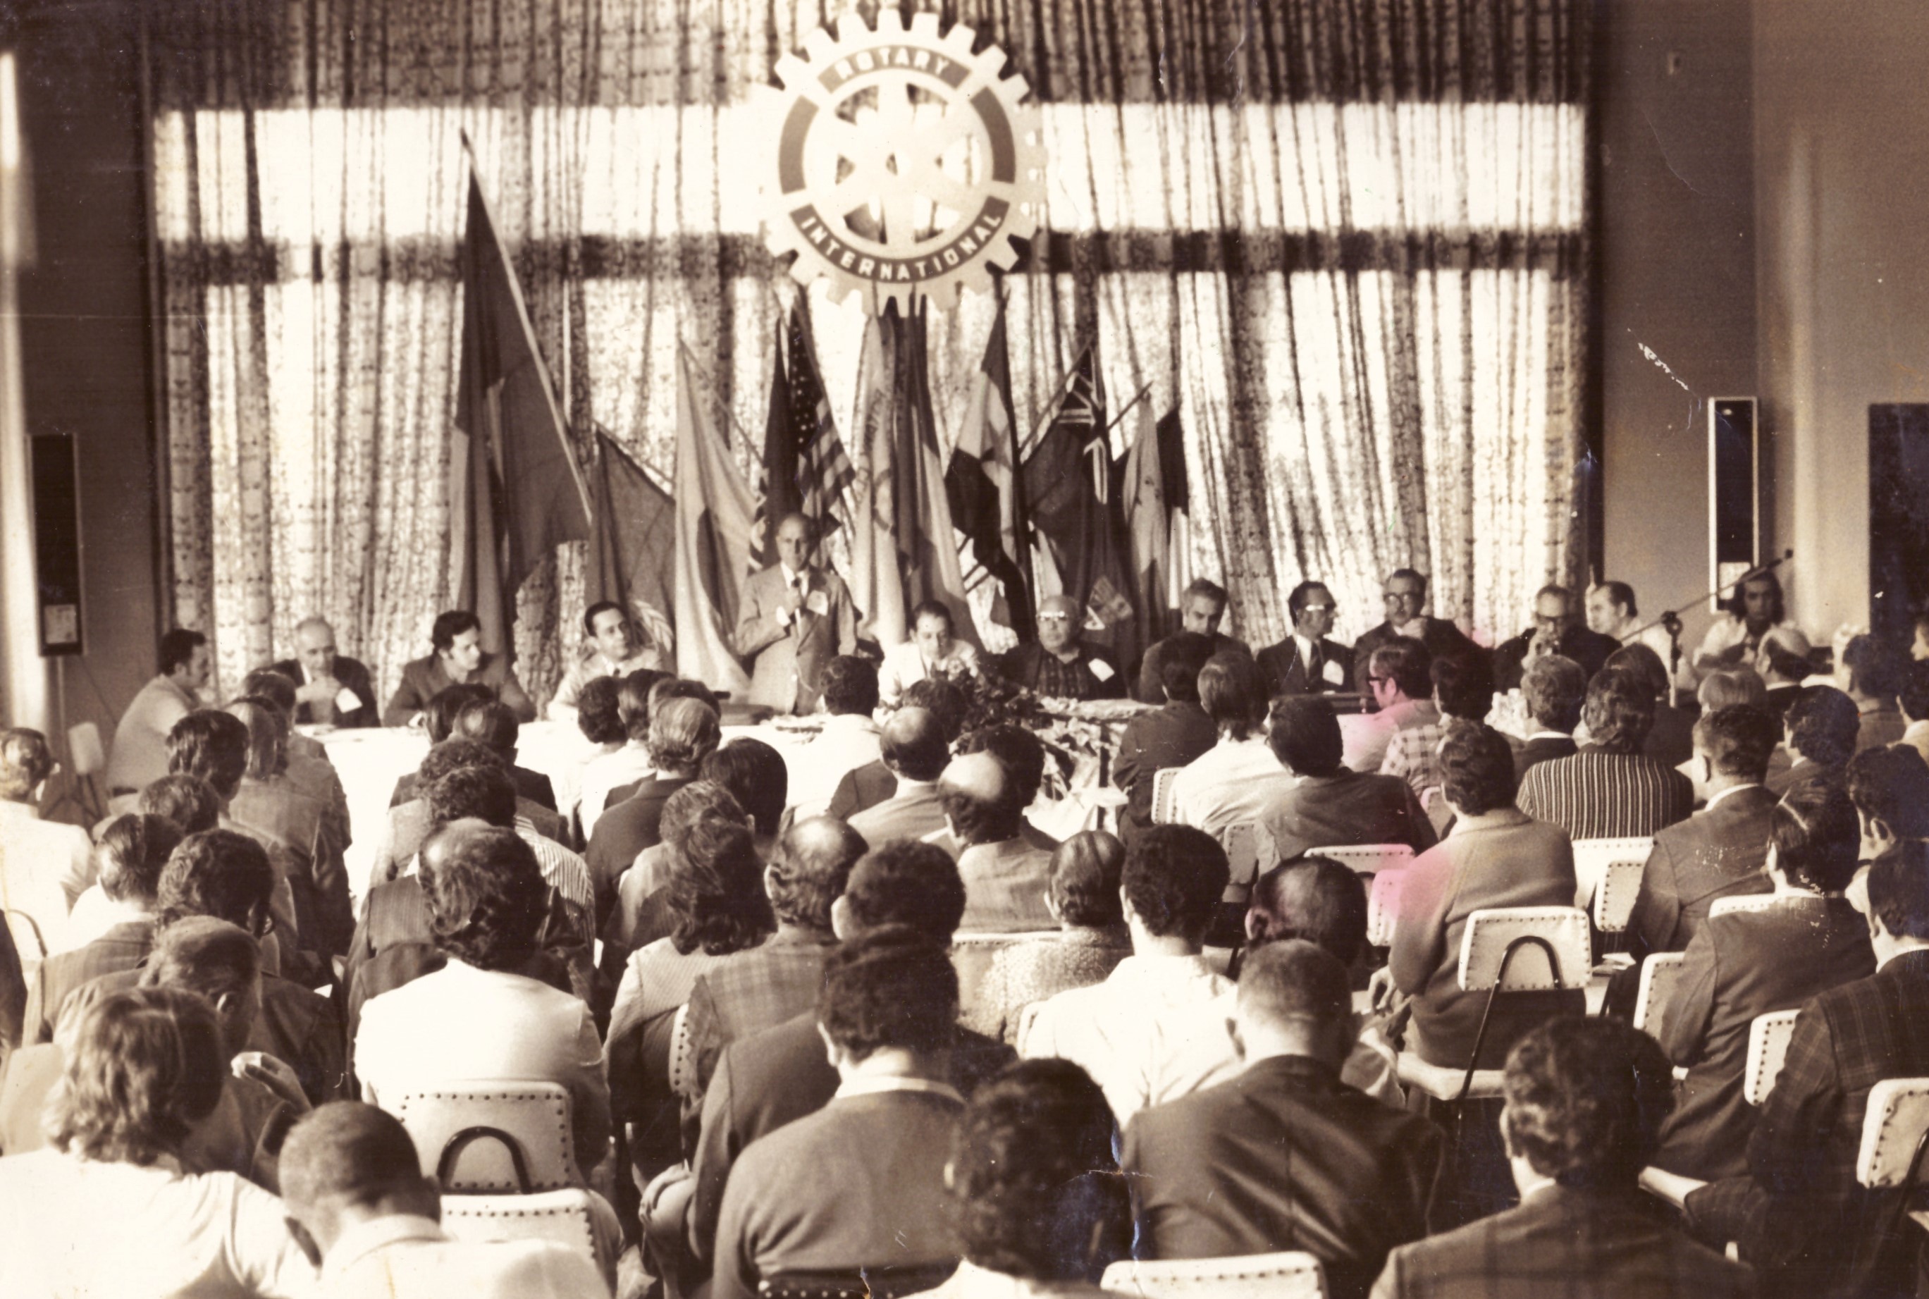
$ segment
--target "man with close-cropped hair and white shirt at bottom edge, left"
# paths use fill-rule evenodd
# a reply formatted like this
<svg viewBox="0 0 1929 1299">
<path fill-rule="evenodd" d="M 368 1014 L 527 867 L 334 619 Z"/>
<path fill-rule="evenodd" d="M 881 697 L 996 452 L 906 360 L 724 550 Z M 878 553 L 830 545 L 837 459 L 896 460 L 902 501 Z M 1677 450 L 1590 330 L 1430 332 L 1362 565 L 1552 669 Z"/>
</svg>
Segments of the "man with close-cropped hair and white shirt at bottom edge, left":
<svg viewBox="0 0 1929 1299">
<path fill-rule="evenodd" d="M 457 1241 L 442 1195 L 390 1114 L 320 1106 L 282 1148 L 287 1231 L 330 1295 L 382 1299 L 606 1299 L 586 1255 L 544 1239 Z"/>
</svg>

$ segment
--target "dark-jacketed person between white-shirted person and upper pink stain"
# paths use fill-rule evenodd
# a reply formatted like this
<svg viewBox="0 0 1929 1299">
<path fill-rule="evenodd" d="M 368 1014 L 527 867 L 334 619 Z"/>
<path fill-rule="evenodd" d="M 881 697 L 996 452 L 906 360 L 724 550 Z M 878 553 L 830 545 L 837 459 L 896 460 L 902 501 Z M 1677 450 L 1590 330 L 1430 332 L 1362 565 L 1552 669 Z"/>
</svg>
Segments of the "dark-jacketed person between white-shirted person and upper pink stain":
<svg viewBox="0 0 1929 1299">
<path fill-rule="evenodd" d="M 1298 782 L 1260 813 L 1262 863 L 1354 843 L 1433 847 L 1439 836 L 1404 780 L 1341 766 L 1339 718 L 1323 701 L 1275 699 L 1267 732 L 1273 757 Z"/>
</svg>

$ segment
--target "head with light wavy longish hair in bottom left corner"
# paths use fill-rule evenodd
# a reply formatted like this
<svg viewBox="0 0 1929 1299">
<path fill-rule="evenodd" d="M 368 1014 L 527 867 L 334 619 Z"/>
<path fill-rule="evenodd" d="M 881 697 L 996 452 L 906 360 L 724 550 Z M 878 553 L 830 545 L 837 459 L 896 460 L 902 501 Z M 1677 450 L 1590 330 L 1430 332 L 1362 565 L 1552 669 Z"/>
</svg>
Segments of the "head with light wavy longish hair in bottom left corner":
<svg viewBox="0 0 1929 1299">
<path fill-rule="evenodd" d="M 179 1152 L 228 1079 L 214 1008 L 181 988 L 106 994 L 71 1027 L 64 1056 L 42 1129 L 56 1150 L 100 1164 Z"/>
</svg>

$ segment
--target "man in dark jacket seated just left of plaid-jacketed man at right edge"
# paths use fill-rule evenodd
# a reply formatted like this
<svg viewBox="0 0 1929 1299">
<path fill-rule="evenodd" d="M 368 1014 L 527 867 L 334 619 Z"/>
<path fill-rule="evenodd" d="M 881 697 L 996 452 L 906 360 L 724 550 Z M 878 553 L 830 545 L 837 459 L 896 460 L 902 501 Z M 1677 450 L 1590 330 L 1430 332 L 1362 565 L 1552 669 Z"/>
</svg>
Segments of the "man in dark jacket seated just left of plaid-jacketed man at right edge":
<svg viewBox="0 0 1929 1299">
<path fill-rule="evenodd" d="M 1794 793 L 1775 805 L 1769 824 L 1775 905 L 1703 923 L 1674 990 L 1655 1008 L 1655 1036 L 1688 1079 L 1653 1164 L 1701 1181 L 1748 1172 L 1755 1108 L 1742 1096 L 1742 1073 L 1755 1015 L 1798 1009 L 1875 973 L 1867 925 L 1842 898 L 1861 847 L 1848 795 L 1827 786 Z"/>
</svg>

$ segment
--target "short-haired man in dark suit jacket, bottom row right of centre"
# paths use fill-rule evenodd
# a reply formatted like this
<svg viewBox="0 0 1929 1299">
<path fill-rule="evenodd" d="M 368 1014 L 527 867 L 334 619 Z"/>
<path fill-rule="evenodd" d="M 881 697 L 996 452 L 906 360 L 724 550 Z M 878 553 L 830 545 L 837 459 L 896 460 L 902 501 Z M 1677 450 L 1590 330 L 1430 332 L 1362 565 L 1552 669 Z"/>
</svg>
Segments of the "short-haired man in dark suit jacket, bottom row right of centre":
<svg viewBox="0 0 1929 1299">
<path fill-rule="evenodd" d="M 1140 1110 L 1125 1131 L 1138 1255 L 1304 1249 L 1329 1295 L 1366 1299 L 1387 1251 L 1427 1233 L 1445 1135 L 1339 1081 L 1352 992 L 1346 967 L 1310 942 L 1246 959 L 1233 1036 L 1236 1079 Z"/>
</svg>

